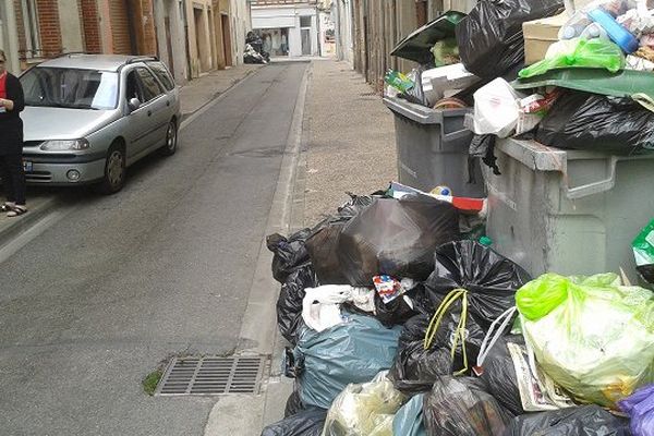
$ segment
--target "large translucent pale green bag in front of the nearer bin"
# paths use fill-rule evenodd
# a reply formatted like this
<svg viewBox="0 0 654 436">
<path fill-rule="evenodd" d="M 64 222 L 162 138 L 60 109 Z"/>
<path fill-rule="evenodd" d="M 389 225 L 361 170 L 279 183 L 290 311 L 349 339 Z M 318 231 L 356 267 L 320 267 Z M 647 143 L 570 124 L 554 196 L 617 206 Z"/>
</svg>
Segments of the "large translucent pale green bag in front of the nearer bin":
<svg viewBox="0 0 654 436">
<path fill-rule="evenodd" d="M 654 294 L 615 274 L 546 274 L 516 293 L 543 371 L 577 401 L 615 408 L 654 382 Z"/>
</svg>

